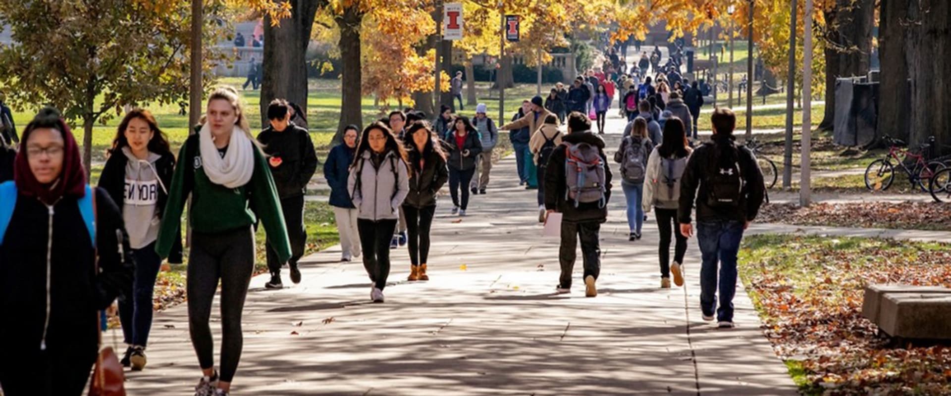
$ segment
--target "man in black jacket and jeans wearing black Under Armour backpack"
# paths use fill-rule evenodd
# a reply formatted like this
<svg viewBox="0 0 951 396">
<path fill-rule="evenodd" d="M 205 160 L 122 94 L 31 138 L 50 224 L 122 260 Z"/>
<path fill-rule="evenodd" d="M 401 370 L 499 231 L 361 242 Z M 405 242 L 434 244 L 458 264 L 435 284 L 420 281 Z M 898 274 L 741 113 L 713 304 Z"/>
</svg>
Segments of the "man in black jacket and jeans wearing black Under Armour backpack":
<svg viewBox="0 0 951 396">
<path fill-rule="evenodd" d="M 729 329 L 733 327 L 736 254 L 743 231 L 763 204 L 766 186 L 753 153 L 735 142 L 733 112 L 727 108 L 717 109 L 710 122 L 712 141 L 693 151 L 681 179 L 677 217 L 681 234 L 692 236 L 690 214 L 696 201 L 697 239 L 703 256 L 700 308 L 704 320 L 713 320 L 719 262 L 720 307 L 715 312 L 719 327 Z M 675 278 L 681 276 L 679 272 L 674 273 Z"/>
</svg>

